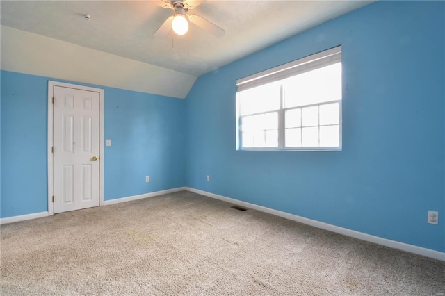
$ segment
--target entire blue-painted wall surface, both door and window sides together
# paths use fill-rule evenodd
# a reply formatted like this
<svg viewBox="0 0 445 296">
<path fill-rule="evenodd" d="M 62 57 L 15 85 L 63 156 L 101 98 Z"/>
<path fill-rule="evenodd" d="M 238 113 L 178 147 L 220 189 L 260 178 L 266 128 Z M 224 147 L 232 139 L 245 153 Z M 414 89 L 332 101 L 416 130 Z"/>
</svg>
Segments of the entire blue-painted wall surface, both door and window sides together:
<svg viewBox="0 0 445 296">
<path fill-rule="evenodd" d="M 185 101 L 88 85 L 112 140 L 105 200 L 190 186 L 445 252 L 444 12 L 373 3 L 201 76 Z M 343 151 L 236 151 L 236 79 L 339 44 Z M 0 74 L 0 217 L 47 211 L 49 78 Z"/>
</svg>

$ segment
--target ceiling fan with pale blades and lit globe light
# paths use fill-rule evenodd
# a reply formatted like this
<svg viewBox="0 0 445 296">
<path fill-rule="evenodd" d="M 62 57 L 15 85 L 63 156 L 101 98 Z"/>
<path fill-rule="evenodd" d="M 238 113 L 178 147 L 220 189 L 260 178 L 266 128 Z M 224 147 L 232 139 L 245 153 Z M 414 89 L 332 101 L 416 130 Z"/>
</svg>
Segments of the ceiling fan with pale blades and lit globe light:
<svg viewBox="0 0 445 296">
<path fill-rule="evenodd" d="M 188 10 L 195 8 L 200 5 L 203 1 L 198 0 L 161 0 L 163 1 L 163 8 L 170 8 L 175 11 L 175 13 L 168 17 L 168 19 L 161 24 L 161 26 L 154 32 L 154 36 L 167 35 L 170 29 L 173 29 L 177 35 L 184 35 L 188 31 L 187 19 L 193 24 L 199 26 L 204 31 L 211 33 L 216 37 L 223 37 L 225 30 L 216 26 L 212 22 L 209 22 L 204 17 L 199 15 L 189 15 Z"/>
</svg>

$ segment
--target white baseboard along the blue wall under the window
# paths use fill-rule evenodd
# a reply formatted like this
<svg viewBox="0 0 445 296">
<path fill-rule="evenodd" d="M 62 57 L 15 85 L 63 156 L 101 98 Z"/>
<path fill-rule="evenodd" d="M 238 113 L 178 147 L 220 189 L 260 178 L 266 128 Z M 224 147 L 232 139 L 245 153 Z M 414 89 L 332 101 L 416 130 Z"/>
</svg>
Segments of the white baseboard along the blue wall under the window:
<svg viewBox="0 0 445 296">
<path fill-rule="evenodd" d="M 378 236 L 371 236 L 370 234 L 362 233 L 362 232 L 351 230 L 351 229 L 346 229 L 346 228 L 343 228 L 343 227 L 338 227 L 338 226 L 335 226 L 335 225 L 332 225 L 332 224 L 319 222 L 319 221 L 316 221 L 316 220 L 308 219 L 308 218 L 301 217 L 301 216 L 298 216 L 298 215 L 293 215 L 293 214 L 290 214 L 290 213 L 285 213 L 285 212 L 282 212 L 282 211 L 277 211 L 277 210 L 274 210 L 272 208 L 266 208 L 264 206 L 258 206 L 257 204 L 250 204 L 248 202 L 242 202 L 242 201 L 240 201 L 238 199 L 232 199 L 230 197 L 225 197 L 223 195 L 216 195 L 214 193 L 198 190 L 198 189 L 195 189 L 195 188 L 186 187 L 186 190 L 191 191 L 191 192 L 195 192 L 197 194 L 204 195 L 204 196 L 207 196 L 207 197 L 211 197 L 211 198 L 214 198 L 214 199 L 220 199 L 220 200 L 222 200 L 224 202 L 229 202 L 231 204 L 237 204 L 238 206 L 244 206 L 246 208 L 252 208 L 254 210 L 261 211 L 261 212 L 264 212 L 264 213 L 269 213 L 269 214 L 276 215 L 276 216 L 279 216 L 279 217 L 284 217 L 284 218 L 289 219 L 289 220 L 293 220 L 293 221 L 300 222 L 300 223 L 303 223 L 303 224 L 311 225 L 313 227 L 325 229 L 327 231 L 340 233 L 340 234 L 343 234 L 343 236 L 350 236 L 350 237 L 353 237 L 353 238 L 358 238 L 359 240 L 366 240 L 367 242 L 373 242 L 373 243 L 378 244 L 378 245 L 384 245 L 386 247 L 391 247 L 391 248 L 394 248 L 394 249 L 401 249 L 402 251 L 405 251 L 405 252 L 410 252 L 410 253 L 414 253 L 414 254 L 430 257 L 430 258 L 435 258 L 437 260 L 445 261 L 445 253 L 438 252 L 438 251 L 435 251 L 433 249 L 426 249 L 424 247 L 417 247 L 415 245 L 405 244 L 405 242 L 397 242 L 395 240 L 388 240 L 387 238 L 380 238 Z"/>
</svg>

